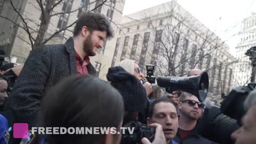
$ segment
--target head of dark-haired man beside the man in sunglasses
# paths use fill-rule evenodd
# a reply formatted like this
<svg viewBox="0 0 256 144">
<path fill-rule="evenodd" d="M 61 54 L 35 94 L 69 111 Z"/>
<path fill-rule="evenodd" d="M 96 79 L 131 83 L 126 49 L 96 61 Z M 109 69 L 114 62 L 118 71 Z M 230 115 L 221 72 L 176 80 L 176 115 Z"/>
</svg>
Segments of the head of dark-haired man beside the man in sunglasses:
<svg viewBox="0 0 256 144">
<path fill-rule="evenodd" d="M 179 127 L 177 111 L 177 104 L 168 98 L 155 100 L 149 108 L 149 117 L 147 118 L 148 125 L 152 123 L 161 124 L 166 143 L 168 144 L 177 143 L 172 140 Z"/>
</svg>

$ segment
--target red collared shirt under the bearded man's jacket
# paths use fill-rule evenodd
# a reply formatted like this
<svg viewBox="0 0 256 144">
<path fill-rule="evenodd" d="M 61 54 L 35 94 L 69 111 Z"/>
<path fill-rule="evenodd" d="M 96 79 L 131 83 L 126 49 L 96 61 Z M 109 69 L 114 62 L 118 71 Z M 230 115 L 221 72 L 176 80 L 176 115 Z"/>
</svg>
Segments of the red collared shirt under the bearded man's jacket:
<svg viewBox="0 0 256 144">
<path fill-rule="evenodd" d="M 90 58 L 88 56 L 84 57 L 84 59 L 82 60 L 82 58 L 79 56 L 79 54 L 76 52 L 76 66 L 77 66 L 77 72 L 78 74 L 88 74 L 89 72 L 87 70 L 87 65 L 89 65 L 90 63 Z"/>
</svg>

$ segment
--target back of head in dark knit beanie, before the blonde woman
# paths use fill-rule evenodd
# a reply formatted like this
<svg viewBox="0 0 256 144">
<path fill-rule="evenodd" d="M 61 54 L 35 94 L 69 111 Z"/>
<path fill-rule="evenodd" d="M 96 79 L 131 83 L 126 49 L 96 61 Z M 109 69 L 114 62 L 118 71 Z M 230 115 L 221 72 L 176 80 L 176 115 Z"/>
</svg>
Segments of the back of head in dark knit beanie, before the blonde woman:
<svg viewBox="0 0 256 144">
<path fill-rule="evenodd" d="M 108 69 L 107 79 L 121 93 L 125 111 L 144 111 L 147 106 L 147 93 L 144 86 L 122 67 Z"/>
</svg>

